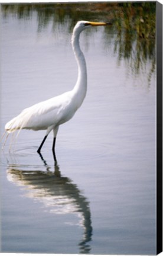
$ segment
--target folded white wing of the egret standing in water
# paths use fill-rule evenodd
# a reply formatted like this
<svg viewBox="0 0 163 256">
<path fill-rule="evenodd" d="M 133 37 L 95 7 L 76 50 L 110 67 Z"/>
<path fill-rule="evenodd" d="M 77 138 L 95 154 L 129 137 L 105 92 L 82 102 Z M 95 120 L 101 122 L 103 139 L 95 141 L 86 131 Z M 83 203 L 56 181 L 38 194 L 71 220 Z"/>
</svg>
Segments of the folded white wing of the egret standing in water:
<svg viewBox="0 0 163 256">
<path fill-rule="evenodd" d="M 70 94 L 66 92 L 49 100 L 42 101 L 25 108 L 17 117 L 6 123 L 5 129 L 14 132 L 18 129 L 43 130 L 55 124 L 61 113 L 70 102 Z"/>
</svg>

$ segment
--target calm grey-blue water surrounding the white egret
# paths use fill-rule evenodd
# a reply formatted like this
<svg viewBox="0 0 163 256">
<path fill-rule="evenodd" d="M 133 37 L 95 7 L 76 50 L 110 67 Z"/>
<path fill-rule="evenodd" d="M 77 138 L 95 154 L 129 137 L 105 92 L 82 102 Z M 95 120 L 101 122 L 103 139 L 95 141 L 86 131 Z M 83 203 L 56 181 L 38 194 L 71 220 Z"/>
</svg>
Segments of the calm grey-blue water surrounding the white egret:
<svg viewBox="0 0 163 256">
<path fill-rule="evenodd" d="M 37 21 L 35 11 L 2 18 L 2 133 L 77 79 L 67 27 Z M 43 158 L 36 153 L 44 131 L 22 130 L 14 151 L 8 140 L 1 153 L 2 252 L 155 254 L 155 76 L 148 59 L 133 74 L 114 52 L 115 30 L 107 37 L 103 27 L 81 35 L 88 90 L 60 126 L 57 164 L 52 135 Z"/>
</svg>

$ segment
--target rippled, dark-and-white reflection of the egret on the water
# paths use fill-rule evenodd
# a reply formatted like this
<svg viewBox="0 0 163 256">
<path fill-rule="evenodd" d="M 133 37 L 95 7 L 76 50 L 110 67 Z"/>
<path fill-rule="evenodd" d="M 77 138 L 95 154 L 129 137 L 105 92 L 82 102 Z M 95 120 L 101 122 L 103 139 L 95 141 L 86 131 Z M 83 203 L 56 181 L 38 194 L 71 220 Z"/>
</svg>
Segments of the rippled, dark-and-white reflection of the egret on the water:
<svg viewBox="0 0 163 256">
<path fill-rule="evenodd" d="M 42 158 L 43 159 L 43 158 Z M 63 177 L 55 164 L 54 172 L 44 161 L 46 170 L 31 170 L 29 165 L 9 164 L 7 177 L 9 181 L 25 186 L 25 196 L 41 201 L 54 214 L 73 213 L 80 217 L 84 228 L 83 238 L 79 243 L 80 253 L 89 253 L 92 239 L 92 225 L 89 202 L 70 178 Z M 28 170 L 30 167 L 30 170 Z M 35 169 L 35 167 L 32 167 Z"/>
</svg>

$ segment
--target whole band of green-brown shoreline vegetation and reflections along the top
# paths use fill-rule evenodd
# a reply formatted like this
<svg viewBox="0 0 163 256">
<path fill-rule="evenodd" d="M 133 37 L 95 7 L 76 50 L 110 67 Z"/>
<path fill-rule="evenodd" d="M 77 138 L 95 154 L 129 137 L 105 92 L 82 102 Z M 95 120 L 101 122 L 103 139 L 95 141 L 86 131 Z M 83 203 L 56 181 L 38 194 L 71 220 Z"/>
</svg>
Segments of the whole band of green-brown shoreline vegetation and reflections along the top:
<svg viewBox="0 0 163 256">
<path fill-rule="evenodd" d="M 1 4 L 1 15 L 8 18 L 28 20 L 37 12 L 38 31 L 47 27 L 51 21 L 55 30 L 56 23 L 64 25 L 69 21 L 69 33 L 78 20 L 112 22 L 115 34 L 114 52 L 118 62 L 127 60 L 134 75 L 151 65 L 148 74 L 155 73 L 155 2 L 67 2 L 40 4 Z M 109 42 L 110 28 L 105 27 L 106 41 Z"/>
</svg>

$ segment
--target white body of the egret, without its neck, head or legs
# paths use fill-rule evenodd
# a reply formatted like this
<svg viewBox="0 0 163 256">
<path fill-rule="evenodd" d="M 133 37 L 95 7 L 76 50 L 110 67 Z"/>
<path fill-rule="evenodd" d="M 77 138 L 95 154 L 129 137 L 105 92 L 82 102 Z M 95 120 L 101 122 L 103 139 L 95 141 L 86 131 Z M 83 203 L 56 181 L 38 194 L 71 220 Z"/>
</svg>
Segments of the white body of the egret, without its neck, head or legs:
<svg viewBox="0 0 163 256">
<path fill-rule="evenodd" d="M 48 135 L 51 130 L 73 117 L 77 106 L 74 107 L 72 98 L 73 92 L 69 91 L 25 108 L 17 117 L 6 123 L 5 129 L 8 133 L 18 129 L 47 130 Z"/>
</svg>

